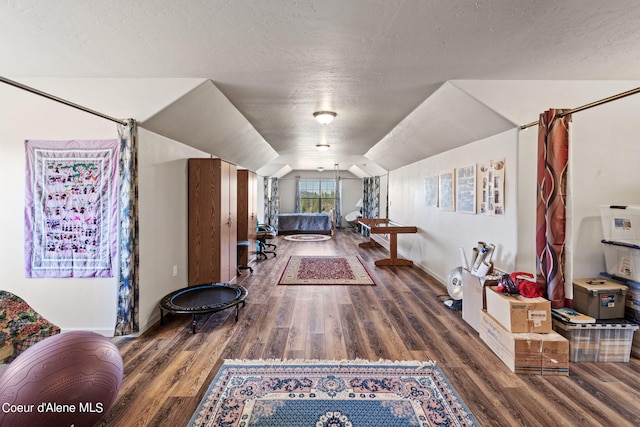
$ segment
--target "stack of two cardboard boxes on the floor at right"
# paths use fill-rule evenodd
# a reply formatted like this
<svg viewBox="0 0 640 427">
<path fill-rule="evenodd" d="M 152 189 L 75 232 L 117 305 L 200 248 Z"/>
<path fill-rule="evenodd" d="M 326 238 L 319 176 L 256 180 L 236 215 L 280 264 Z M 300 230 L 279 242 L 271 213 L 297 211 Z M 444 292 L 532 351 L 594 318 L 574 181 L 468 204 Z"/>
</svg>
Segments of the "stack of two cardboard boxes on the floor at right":
<svg viewBox="0 0 640 427">
<path fill-rule="evenodd" d="M 553 331 L 551 303 L 486 288 L 480 338 L 517 374 L 569 375 L 569 341 Z"/>
</svg>

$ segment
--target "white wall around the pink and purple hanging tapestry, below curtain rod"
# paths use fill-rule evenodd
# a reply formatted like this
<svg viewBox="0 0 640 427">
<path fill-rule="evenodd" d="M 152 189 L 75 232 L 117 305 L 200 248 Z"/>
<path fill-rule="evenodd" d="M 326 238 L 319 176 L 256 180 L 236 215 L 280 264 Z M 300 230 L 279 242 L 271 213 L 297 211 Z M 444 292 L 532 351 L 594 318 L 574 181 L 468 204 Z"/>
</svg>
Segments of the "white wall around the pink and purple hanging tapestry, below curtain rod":
<svg viewBox="0 0 640 427">
<path fill-rule="evenodd" d="M 25 139 L 113 139 L 115 124 L 0 85 L 0 287 L 22 297 L 62 329 L 113 334 L 116 279 L 26 279 L 24 276 Z"/>
</svg>

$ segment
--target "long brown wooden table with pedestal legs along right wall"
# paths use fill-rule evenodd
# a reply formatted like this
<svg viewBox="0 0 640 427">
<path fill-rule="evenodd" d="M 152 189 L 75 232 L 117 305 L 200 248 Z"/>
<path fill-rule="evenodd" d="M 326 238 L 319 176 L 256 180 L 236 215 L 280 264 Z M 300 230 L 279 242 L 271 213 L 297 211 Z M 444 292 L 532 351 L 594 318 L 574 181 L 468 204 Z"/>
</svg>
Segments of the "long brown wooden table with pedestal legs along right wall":
<svg viewBox="0 0 640 427">
<path fill-rule="evenodd" d="M 369 230 L 369 241 L 360 243 L 360 247 L 382 246 L 389 251 L 389 258 L 377 260 L 377 266 L 413 265 L 409 259 L 398 258 L 398 234 L 417 233 L 417 227 L 395 224 L 386 218 L 359 218 L 356 222 Z M 385 239 L 384 235 L 388 235 L 389 239 Z"/>
</svg>

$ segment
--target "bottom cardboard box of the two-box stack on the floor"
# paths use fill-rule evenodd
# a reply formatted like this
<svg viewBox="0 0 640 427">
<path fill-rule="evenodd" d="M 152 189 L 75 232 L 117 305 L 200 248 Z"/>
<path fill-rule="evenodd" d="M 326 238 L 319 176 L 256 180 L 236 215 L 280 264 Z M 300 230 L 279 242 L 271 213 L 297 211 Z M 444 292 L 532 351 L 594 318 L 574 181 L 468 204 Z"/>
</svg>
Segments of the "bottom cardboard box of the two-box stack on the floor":
<svg viewBox="0 0 640 427">
<path fill-rule="evenodd" d="M 480 338 L 512 372 L 569 375 L 569 342 L 560 334 L 511 333 L 484 310 L 479 329 Z"/>
</svg>

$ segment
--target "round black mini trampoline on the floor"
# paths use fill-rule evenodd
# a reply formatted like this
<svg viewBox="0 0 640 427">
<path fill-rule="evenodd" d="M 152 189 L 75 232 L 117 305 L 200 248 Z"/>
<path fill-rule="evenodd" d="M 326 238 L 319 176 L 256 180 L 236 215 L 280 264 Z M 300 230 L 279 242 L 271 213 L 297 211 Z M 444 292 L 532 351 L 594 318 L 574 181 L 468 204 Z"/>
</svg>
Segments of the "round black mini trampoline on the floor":
<svg viewBox="0 0 640 427">
<path fill-rule="evenodd" d="M 164 320 L 164 312 L 172 314 L 191 314 L 192 331 L 196 333 L 196 314 L 210 314 L 227 308 L 236 308 L 236 322 L 240 311 L 239 305 L 245 306 L 247 290 L 232 283 L 214 283 L 208 285 L 188 286 L 166 295 L 160 301 L 160 324 Z"/>
</svg>

